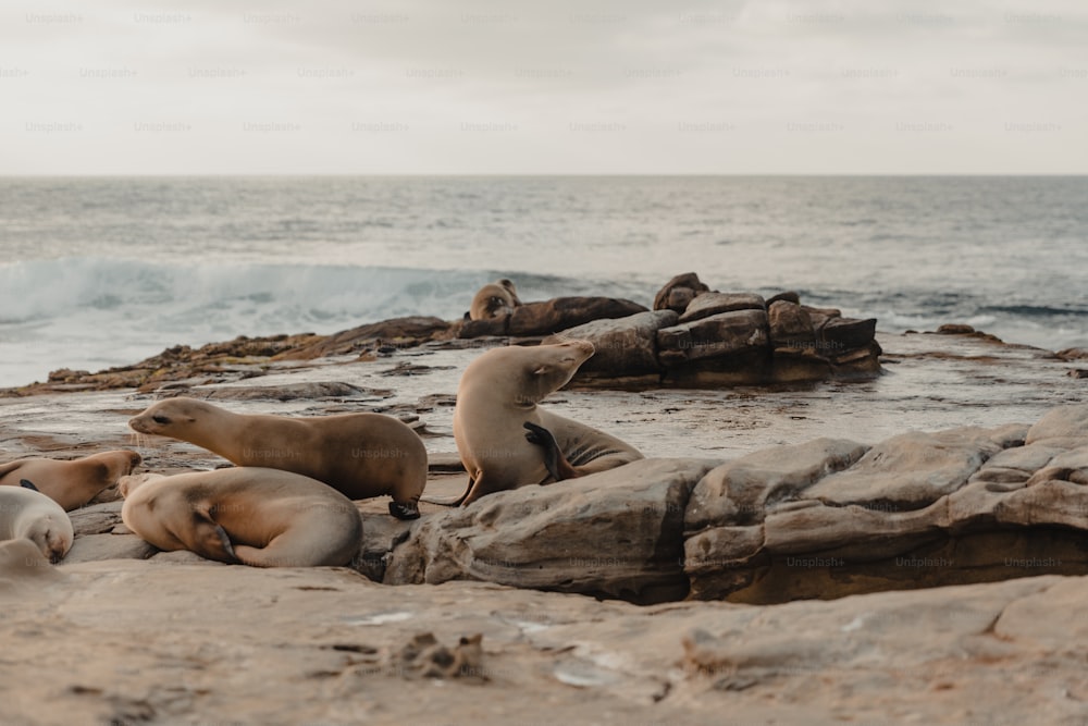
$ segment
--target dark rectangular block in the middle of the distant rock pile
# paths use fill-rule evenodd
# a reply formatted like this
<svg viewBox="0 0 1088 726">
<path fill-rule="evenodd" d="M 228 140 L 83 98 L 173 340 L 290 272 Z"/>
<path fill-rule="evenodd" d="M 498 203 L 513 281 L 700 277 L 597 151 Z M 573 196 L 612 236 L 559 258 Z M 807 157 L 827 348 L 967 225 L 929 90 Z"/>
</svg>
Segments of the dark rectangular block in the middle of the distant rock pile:
<svg viewBox="0 0 1088 726">
<path fill-rule="evenodd" d="M 658 358 L 665 368 L 690 360 L 717 358 L 750 350 L 769 354 L 764 310 L 721 312 L 657 331 Z"/>
</svg>

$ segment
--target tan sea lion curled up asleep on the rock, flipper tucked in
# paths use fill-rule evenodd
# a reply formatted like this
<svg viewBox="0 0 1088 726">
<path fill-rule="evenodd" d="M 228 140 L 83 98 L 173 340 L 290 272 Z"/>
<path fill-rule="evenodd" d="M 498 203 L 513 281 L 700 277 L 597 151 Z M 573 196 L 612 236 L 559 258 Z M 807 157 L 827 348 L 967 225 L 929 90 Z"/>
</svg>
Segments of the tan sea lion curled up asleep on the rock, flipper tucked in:
<svg viewBox="0 0 1088 726">
<path fill-rule="evenodd" d="M 362 543 L 349 499 L 290 471 L 232 467 L 125 477 L 125 526 L 160 550 L 254 567 L 346 565 Z"/>
</svg>

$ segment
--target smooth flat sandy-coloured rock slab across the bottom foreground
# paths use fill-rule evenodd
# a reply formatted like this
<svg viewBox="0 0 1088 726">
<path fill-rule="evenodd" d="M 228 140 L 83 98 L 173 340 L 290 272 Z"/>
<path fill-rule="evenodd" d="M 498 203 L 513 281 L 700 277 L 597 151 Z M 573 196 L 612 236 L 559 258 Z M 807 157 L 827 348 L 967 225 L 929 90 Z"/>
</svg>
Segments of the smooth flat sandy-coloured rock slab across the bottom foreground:
<svg viewBox="0 0 1088 726">
<path fill-rule="evenodd" d="M 1084 711 L 1088 625 L 1070 613 L 1085 577 L 640 607 L 480 582 L 388 588 L 334 567 L 41 574 L 15 576 L 0 619 L 20 664 L 9 723 L 499 726 L 546 704 L 569 724 L 1074 724 Z"/>
</svg>

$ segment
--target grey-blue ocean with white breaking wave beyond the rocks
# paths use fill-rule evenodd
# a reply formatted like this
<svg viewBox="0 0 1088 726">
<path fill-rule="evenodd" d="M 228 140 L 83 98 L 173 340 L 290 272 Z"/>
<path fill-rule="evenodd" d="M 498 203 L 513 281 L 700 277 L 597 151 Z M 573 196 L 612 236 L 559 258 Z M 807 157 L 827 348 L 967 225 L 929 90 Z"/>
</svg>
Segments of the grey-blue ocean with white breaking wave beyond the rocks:
<svg viewBox="0 0 1088 726">
<path fill-rule="evenodd" d="M 794 290 L 878 330 L 1088 347 L 1088 177 L 0 177 L 0 386 L 176 344 Z"/>
</svg>

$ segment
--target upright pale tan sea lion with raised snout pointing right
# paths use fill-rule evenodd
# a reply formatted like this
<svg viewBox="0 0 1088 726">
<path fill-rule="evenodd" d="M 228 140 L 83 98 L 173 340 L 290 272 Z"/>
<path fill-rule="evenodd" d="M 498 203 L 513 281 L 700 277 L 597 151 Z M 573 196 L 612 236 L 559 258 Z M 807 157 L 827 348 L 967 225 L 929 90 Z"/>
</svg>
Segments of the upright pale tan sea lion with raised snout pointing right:
<svg viewBox="0 0 1088 726">
<path fill-rule="evenodd" d="M 641 459 L 638 450 L 594 428 L 536 406 L 562 387 L 593 355 L 588 341 L 509 346 L 469 364 L 457 387 L 454 439 L 469 487 L 469 504 L 507 489 L 546 484 Z M 528 431 L 527 431 L 528 430 Z"/>
</svg>

